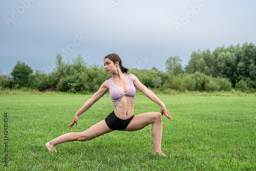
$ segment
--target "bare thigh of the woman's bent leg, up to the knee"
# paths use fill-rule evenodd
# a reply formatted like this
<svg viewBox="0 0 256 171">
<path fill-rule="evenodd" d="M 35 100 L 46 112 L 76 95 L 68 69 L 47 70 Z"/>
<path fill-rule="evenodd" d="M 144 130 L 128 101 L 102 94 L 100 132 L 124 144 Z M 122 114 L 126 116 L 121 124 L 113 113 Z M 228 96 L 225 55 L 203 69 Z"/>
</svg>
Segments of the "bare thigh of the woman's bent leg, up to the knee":
<svg viewBox="0 0 256 171">
<path fill-rule="evenodd" d="M 162 119 L 162 116 L 158 112 L 148 112 L 133 117 L 129 125 L 124 131 L 138 131 L 143 129 L 148 124 L 153 123 L 156 119 Z"/>
</svg>

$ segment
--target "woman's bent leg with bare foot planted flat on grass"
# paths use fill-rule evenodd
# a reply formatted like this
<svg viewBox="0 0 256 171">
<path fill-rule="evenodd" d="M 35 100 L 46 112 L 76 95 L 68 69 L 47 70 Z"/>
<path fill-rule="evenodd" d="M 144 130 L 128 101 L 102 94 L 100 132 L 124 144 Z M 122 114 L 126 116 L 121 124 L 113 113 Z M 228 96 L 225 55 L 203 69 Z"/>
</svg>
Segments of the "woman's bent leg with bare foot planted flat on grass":
<svg viewBox="0 0 256 171">
<path fill-rule="evenodd" d="M 133 117 L 124 131 L 138 131 L 148 124 L 152 125 L 152 138 L 154 145 L 154 154 L 165 156 L 161 151 L 162 140 L 162 115 L 158 112 L 143 113 Z"/>
</svg>

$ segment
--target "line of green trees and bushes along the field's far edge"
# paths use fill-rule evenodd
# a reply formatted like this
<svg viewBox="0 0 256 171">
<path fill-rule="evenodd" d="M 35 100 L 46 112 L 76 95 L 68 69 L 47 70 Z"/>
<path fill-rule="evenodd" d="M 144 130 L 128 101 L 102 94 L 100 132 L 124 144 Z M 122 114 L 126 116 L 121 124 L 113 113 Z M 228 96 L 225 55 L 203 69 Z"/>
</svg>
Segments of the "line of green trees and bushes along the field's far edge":
<svg viewBox="0 0 256 171">
<path fill-rule="evenodd" d="M 224 46 L 213 52 L 197 50 L 191 53 L 188 65 L 182 67 L 178 55 L 165 61 L 165 71 L 153 67 L 130 69 L 148 88 L 162 93 L 171 90 L 184 91 L 240 91 L 255 92 L 256 89 L 256 46 Z M 10 75 L 0 75 L 1 89 L 29 88 L 46 90 L 55 87 L 61 92 L 91 93 L 98 90 L 102 82 L 111 78 L 103 66 L 89 66 L 78 54 L 72 62 L 64 62 L 56 55 L 56 67 L 51 73 L 33 70 L 25 62 L 17 61 Z"/>
</svg>

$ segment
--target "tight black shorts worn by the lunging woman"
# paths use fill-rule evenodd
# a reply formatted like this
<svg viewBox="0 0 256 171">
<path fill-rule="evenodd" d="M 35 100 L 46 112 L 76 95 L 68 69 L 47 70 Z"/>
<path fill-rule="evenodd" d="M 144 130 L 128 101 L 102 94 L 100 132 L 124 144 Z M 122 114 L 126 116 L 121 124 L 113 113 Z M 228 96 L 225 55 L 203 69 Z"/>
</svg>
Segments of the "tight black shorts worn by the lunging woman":
<svg viewBox="0 0 256 171">
<path fill-rule="evenodd" d="M 120 119 L 118 118 L 114 111 L 111 112 L 106 118 L 105 118 L 105 122 L 106 125 L 109 126 L 109 128 L 111 130 L 119 130 L 119 131 L 123 131 L 126 129 L 126 127 L 128 126 L 128 124 L 131 122 L 131 120 L 133 119 L 134 115 L 126 120 Z"/>
</svg>

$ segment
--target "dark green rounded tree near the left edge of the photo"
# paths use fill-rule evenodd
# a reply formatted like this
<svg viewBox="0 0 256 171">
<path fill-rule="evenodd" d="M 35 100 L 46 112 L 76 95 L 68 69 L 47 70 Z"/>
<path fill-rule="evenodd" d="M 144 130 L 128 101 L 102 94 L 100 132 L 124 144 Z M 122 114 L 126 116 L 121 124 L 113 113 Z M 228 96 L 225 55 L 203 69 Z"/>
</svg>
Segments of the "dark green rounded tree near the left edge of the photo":
<svg viewBox="0 0 256 171">
<path fill-rule="evenodd" d="M 33 70 L 25 62 L 17 61 L 11 72 L 14 87 L 29 87 L 29 78 L 32 73 Z"/>
</svg>

